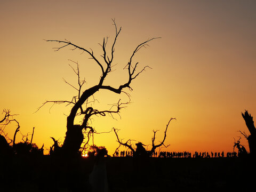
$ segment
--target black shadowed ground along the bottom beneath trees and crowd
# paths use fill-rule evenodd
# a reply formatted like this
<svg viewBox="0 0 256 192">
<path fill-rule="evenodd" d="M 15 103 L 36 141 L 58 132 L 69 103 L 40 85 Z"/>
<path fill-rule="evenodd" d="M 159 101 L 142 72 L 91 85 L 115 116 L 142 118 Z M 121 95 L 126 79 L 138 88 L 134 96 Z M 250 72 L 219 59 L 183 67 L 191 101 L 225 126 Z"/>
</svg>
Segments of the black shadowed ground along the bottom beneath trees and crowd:
<svg viewBox="0 0 256 192">
<path fill-rule="evenodd" d="M 105 160 L 109 191 L 245 191 L 255 182 L 255 161 L 248 157 Z M 0 191 L 91 191 L 94 158 L 13 157 L 0 163 Z"/>
</svg>

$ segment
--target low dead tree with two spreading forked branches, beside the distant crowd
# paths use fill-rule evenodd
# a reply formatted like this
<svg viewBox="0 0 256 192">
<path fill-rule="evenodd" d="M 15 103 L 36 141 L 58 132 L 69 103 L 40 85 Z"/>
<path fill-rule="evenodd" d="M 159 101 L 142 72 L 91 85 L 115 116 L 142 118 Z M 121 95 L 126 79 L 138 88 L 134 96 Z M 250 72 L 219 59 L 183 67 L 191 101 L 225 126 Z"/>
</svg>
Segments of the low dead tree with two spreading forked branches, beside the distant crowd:
<svg viewBox="0 0 256 192">
<path fill-rule="evenodd" d="M 159 130 L 153 130 L 153 132 L 154 132 L 154 134 L 153 134 L 153 137 L 152 137 L 152 139 L 151 139 L 151 141 L 152 141 L 152 148 L 148 151 L 148 153 L 149 153 L 149 155 L 152 155 L 153 153 L 154 153 L 154 151 L 156 150 L 156 148 L 158 148 L 158 147 L 161 147 L 161 146 L 164 146 L 165 148 L 167 148 L 167 147 L 169 147 L 170 145 L 164 145 L 164 141 L 165 141 L 165 139 L 166 139 L 166 132 L 167 132 L 167 129 L 168 129 L 168 127 L 169 127 L 169 124 L 170 124 L 170 122 L 173 120 L 173 119 L 175 119 L 176 120 L 176 118 L 170 118 L 170 120 L 169 120 L 169 122 L 167 123 L 167 125 L 166 125 L 166 128 L 165 128 L 165 131 L 164 131 L 164 138 L 163 138 L 163 140 L 162 141 L 159 141 L 159 143 L 156 145 L 156 143 L 155 143 L 155 140 L 156 140 L 156 132 L 157 131 L 159 131 Z M 129 139 L 129 140 L 127 140 L 126 142 L 123 142 L 123 140 L 122 139 L 119 139 L 119 137 L 118 137 L 118 134 L 117 134 L 117 132 L 119 131 L 118 129 L 115 129 L 114 127 L 113 127 L 113 130 L 114 130 L 114 132 L 115 132 L 115 135 L 116 135 L 116 138 L 117 138 L 117 142 L 119 143 L 119 147 L 120 146 L 124 146 L 124 147 L 127 147 L 127 148 L 129 148 L 131 151 L 132 151 L 132 153 L 133 154 L 137 154 L 137 149 L 138 148 L 140 148 L 139 150 L 141 151 L 141 148 L 143 147 L 142 145 L 142 143 L 141 142 L 138 142 L 138 143 L 136 143 L 136 148 L 135 147 L 133 147 L 132 146 L 132 142 L 131 141 L 134 141 L 134 140 L 131 140 L 131 139 Z M 144 145 L 145 146 L 145 145 Z M 119 148 L 118 147 L 118 148 Z M 117 149 L 118 149 L 117 148 Z M 116 150 L 117 150 L 116 149 Z"/>
</svg>

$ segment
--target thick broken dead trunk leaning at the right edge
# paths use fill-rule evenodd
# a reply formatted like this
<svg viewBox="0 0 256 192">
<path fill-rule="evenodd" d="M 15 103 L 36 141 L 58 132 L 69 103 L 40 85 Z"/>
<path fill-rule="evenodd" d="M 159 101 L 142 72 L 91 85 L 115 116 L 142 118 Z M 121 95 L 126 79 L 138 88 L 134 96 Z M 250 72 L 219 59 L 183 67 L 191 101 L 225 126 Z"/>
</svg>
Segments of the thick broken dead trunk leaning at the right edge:
<svg viewBox="0 0 256 192">
<path fill-rule="evenodd" d="M 251 133 L 249 136 L 246 135 L 245 137 L 249 143 L 250 154 L 255 156 L 256 155 L 256 129 L 254 126 L 253 117 L 251 116 L 251 114 L 248 113 L 247 110 L 245 110 L 244 114 L 242 113 L 242 116 L 244 118 L 244 121 L 248 130 Z"/>
</svg>

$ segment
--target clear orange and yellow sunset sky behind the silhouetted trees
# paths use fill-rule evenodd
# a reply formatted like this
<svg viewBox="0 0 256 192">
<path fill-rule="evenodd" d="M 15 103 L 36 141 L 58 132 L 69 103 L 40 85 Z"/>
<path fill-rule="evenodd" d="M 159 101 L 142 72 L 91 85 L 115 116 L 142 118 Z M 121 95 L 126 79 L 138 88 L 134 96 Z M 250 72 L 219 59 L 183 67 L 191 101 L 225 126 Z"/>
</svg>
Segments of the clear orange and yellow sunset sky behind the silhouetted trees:
<svg viewBox="0 0 256 192">
<path fill-rule="evenodd" d="M 113 40 L 122 26 L 115 49 L 115 71 L 107 82 L 125 81 L 126 65 L 134 48 L 151 37 L 147 49 L 135 57 L 140 67 L 150 66 L 131 86 L 131 104 L 121 118 L 94 118 L 98 132 L 120 129 L 119 137 L 151 143 L 171 117 L 167 131 L 169 151 L 231 151 L 234 138 L 249 134 L 241 112 L 256 118 L 256 2 L 255 1 L 0 1 L 0 109 L 10 109 L 23 134 L 35 127 L 33 141 L 50 148 L 50 137 L 64 140 L 70 107 L 44 106 L 45 100 L 71 100 L 76 83 L 69 67 L 78 61 L 89 88 L 98 82 L 99 67 L 81 51 L 54 52 L 68 39 L 94 50 L 100 57 L 103 37 Z M 101 91 L 99 109 L 125 95 Z M 51 110 L 50 110 L 51 108 Z M 50 111 L 50 113 L 49 113 Z M 12 137 L 15 124 L 5 130 Z M 19 135 L 20 138 L 20 135 Z M 241 140 L 247 147 L 245 139 Z M 118 143 L 114 132 L 95 135 L 94 143 L 112 154 Z M 248 148 L 248 147 L 247 147 Z"/>
</svg>

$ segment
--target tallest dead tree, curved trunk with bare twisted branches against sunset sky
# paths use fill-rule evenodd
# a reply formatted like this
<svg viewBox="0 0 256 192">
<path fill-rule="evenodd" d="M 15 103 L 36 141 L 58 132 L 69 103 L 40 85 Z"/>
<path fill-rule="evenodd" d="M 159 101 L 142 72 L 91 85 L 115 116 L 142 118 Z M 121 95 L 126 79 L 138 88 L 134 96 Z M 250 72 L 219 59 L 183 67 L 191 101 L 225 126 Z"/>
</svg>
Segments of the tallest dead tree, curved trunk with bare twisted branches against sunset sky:
<svg viewBox="0 0 256 192">
<path fill-rule="evenodd" d="M 99 111 L 97 109 L 94 109 L 93 107 L 89 107 L 86 105 L 89 102 L 90 98 L 93 98 L 93 94 L 100 91 L 100 90 L 108 90 L 110 92 L 114 92 L 117 94 L 121 94 L 122 92 L 125 92 L 125 89 L 132 90 L 131 88 L 131 82 L 137 78 L 142 71 L 144 71 L 147 67 L 143 67 L 141 70 L 138 70 L 138 62 L 134 62 L 134 55 L 142 48 L 146 47 L 148 42 L 153 41 L 156 38 L 150 38 L 147 41 L 144 41 L 140 43 L 135 49 L 133 50 L 131 57 L 129 61 L 127 62 L 127 65 L 124 66 L 124 69 L 127 70 L 127 81 L 124 83 L 120 83 L 119 87 L 114 87 L 111 85 L 105 84 L 105 78 L 109 73 L 112 71 L 113 67 L 113 60 L 114 60 L 114 52 L 115 52 L 115 44 L 117 42 L 117 38 L 121 32 L 121 27 L 118 28 L 115 20 L 113 20 L 113 24 L 115 26 L 115 38 L 113 43 L 110 46 L 110 53 L 107 54 L 107 43 L 108 43 L 108 37 L 103 38 L 103 43 L 100 44 L 102 47 L 103 54 L 101 57 L 103 58 L 103 62 L 101 62 L 96 55 L 94 55 L 93 50 L 91 49 L 85 49 L 81 46 L 78 46 L 77 44 L 74 44 L 68 40 L 65 39 L 65 41 L 60 40 L 45 40 L 46 42 L 55 42 L 60 44 L 59 47 L 55 47 L 55 51 L 59 51 L 65 47 L 71 47 L 71 50 L 80 50 L 82 52 L 85 52 L 86 54 L 90 55 L 91 59 L 95 61 L 95 64 L 99 66 L 99 69 L 101 71 L 101 76 L 99 79 L 98 84 L 90 87 L 89 89 L 83 89 L 84 80 L 81 81 L 80 75 L 79 75 L 79 68 L 77 63 L 77 69 L 73 70 L 75 71 L 77 77 L 78 77 L 78 88 L 76 86 L 71 85 L 74 89 L 78 91 L 78 95 L 74 96 L 71 101 L 67 100 L 56 100 L 56 101 L 46 101 L 43 103 L 42 106 L 44 106 L 46 103 L 52 102 L 52 103 L 66 103 L 67 105 L 73 105 L 71 108 L 71 111 L 67 117 L 67 132 L 66 137 L 63 142 L 63 145 L 61 147 L 61 150 L 63 153 L 67 155 L 74 155 L 77 154 L 78 150 L 81 148 L 81 144 L 84 140 L 83 131 L 87 131 L 87 133 L 91 132 L 93 133 L 94 130 L 91 126 L 89 126 L 89 119 L 93 115 L 101 115 L 105 116 L 106 114 L 113 114 L 113 113 L 119 113 L 119 110 L 124 106 L 125 103 L 122 103 L 120 100 L 117 102 L 116 105 L 114 105 L 110 110 L 103 110 Z M 157 37 L 158 38 L 158 37 Z M 65 81 L 66 82 L 66 81 Z M 66 82 L 67 83 L 67 82 Z M 128 94 L 128 93 L 126 93 Z M 128 94 L 129 95 L 129 94 Z M 41 107 L 42 107 L 41 106 Z M 39 107 L 39 108 L 41 108 Z M 115 107 L 115 109 L 114 109 Z M 38 109 L 39 109 L 38 108 Z M 83 121 L 81 124 L 75 124 L 74 120 L 77 115 L 83 115 Z"/>
</svg>

